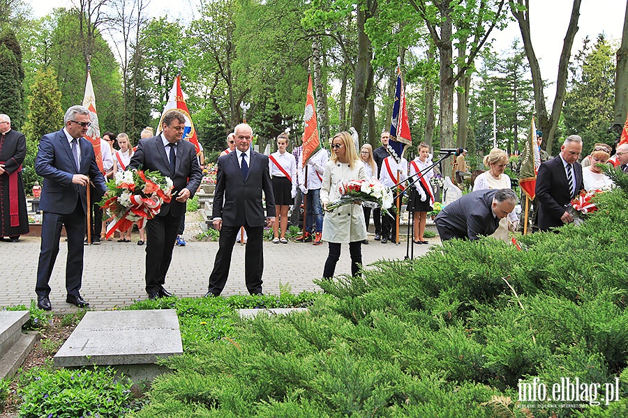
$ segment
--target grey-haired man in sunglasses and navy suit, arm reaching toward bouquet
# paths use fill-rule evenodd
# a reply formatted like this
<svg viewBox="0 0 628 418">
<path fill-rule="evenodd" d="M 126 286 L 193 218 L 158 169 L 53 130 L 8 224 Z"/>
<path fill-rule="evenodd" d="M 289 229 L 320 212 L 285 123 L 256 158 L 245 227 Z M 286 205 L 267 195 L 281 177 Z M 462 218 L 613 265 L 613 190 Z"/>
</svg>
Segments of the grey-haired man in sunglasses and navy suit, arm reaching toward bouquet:
<svg viewBox="0 0 628 418">
<path fill-rule="evenodd" d="M 66 302 L 89 307 L 80 294 L 83 274 L 83 236 L 87 213 L 87 187 L 90 179 L 97 194 L 105 193 L 105 178 L 100 173 L 94 147 L 84 138 L 91 125 L 89 110 L 73 106 L 63 116 L 59 132 L 45 134 L 39 141 L 35 172 L 44 178 L 39 208 L 43 211 L 41 251 L 37 268 L 37 306 L 46 311 L 50 304 L 50 275 L 59 253 L 61 227 L 68 235 L 66 261 Z M 91 196 L 92 201 L 100 196 Z"/>
</svg>

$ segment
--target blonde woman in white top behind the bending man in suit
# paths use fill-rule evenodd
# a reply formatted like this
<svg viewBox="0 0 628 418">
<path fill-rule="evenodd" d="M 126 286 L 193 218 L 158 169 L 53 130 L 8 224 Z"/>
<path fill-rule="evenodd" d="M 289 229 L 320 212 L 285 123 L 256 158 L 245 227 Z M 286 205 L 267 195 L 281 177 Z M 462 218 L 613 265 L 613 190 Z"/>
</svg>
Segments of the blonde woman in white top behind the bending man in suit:
<svg viewBox="0 0 628 418">
<path fill-rule="evenodd" d="M 503 150 L 493 148 L 491 152 L 484 157 L 483 162 L 486 167 L 489 167 L 489 169 L 475 178 L 475 183 L 473 185 L 474 192 L 476 190 L 485 189 L 511 188 L 510 178 L 507 174 L 504 174 L 504 169 L 506 169 L 506 164 L 508 164 L 508 155 Z M 493 235 L 491 235 L 491 237 L 508 242 L 508 230 L 510 229 L 511 231 L 515 231 L 518 223 L 519 218 L 513 210 L 507 217 L 500 220 L 500 226 L 498 226 L 498 229 L 495 233 L 493 233 Z"/>
</svg>

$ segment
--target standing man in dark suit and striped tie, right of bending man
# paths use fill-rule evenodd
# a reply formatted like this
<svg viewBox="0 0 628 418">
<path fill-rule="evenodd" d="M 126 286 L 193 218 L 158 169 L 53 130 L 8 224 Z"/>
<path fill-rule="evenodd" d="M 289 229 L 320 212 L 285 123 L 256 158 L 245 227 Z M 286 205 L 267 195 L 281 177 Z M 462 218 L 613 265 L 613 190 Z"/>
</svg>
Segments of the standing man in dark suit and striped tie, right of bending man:
<svg viewBox="0 0 628 418">
<path fill-rule="evenodd" d="M 578 162 L 581 152 L 582 138 L 569 135 L 560 146 L 560 154 L 539 167 L 534 191 L 539 202 L 537 220 L 541 231 L 574 222 L 567 208 L 569 201 L 583 189 L 582 166 Z"/>
</svg>

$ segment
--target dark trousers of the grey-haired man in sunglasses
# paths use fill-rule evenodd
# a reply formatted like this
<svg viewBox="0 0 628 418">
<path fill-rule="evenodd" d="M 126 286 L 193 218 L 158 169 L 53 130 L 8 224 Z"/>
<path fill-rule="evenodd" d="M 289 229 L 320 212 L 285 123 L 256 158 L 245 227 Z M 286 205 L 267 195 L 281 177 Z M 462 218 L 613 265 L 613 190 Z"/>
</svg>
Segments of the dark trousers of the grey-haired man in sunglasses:
<svg viewBox="0 0 628 418">
<path fill-rule="evenodd" d="M 38 296 L 50 295 L 50 276 L 59 254 L 59 238 L 61 228 L 66 227 L 68 236 L 68 258 L 66 259 L 66 291 L 68 295 L 78 296 L 83 276 L 83 237 L 85 233 L 85 211 L 81 200 L 77 199 L 73 212 L 67 215 L 43 212 L 41 223 L 41 251 L 37 266 L 37 284 L 35 293 Z"/>
</svg>

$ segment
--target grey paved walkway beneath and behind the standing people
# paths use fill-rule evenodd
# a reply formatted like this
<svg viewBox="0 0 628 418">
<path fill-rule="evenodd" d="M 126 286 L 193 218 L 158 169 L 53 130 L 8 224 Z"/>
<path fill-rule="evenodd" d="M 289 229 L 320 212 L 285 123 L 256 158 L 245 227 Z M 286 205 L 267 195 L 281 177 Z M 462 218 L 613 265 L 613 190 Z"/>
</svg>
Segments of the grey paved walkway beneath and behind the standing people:
<svg viewBox="0 0 628 418">
<path fill-rule="evenodd" d="M 190 231 L 193 231 L 190 228 Z M 184 235 L 188 239 L 186 247 L 174 247 L 172 264 L 166 277 L 165 288 L 179 297 L 202 297 L 207 292 L 207 280 L 214 265 L 218 242 L 198 242 L 191 240 L 188 229 Z M 373 241 L 362 246 L 362 257 L 366 265 L 382 258 L 403 259 L 406 254 L 405 242 L 382 245 Z M 133 242 L 115 240 L 101 245 L 85 247 L 83 297 L 96 310 L 125 307 L 134 300 L 147 297 L 144 293 L 144 260 L 146 247 L 137 245 L 139 235 L 133 233 Z M 431 238 L 430 245 L 414 245 L 414 257 L 425 254 L 428 247 L 440 245 L 440 240 Z M 232 265 L 223 291 L 224 296 L 246 294 L 244 284 L 245 246 L 236 245 Z M 0 242 L 0 307 L 15 304 L 30 306 L 35 299 L 35 281 L 40 238 L 25 236 L 19 242 Z M 50 300 L 55 312 L 75 311 L 67 304 L 65 291 L 67 246 L 63 238 L 57 263 L 54 265 L 50 287 Z M 279 284 L 289 284 L 292 293 L 315 291 L 318 286 L 313 279 L 322 275 L 327 258 L 327 244 L 314 246 L 310 243 L 290 242 L 272 244 L 264 242 L 264 285 L 266 294 L 279 294 Z M 341 260 L 336 274 L 350 273 L 349 247 L 343 245 Z"/>
</svg>

